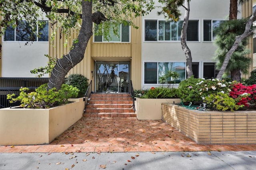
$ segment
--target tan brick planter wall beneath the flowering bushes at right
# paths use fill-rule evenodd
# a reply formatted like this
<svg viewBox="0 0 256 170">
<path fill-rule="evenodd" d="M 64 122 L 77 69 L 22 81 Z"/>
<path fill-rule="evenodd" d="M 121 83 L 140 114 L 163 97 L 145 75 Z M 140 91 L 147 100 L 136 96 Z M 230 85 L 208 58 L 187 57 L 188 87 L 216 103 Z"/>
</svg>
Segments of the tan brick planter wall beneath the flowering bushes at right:
<svg viewBox="0 0 256 170">
<path fill-rule="evenodd" d="M 256 143 L 256 111 L 198 111 L 164 103 L 162 120 L 198 144 Z"/>
</svg>

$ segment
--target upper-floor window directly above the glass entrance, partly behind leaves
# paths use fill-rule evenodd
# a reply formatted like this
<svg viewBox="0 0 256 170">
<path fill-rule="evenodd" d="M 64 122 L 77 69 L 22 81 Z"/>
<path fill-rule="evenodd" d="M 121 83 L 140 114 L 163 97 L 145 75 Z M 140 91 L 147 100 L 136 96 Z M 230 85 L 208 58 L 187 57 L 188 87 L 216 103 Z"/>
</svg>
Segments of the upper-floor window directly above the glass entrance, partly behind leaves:
<svg viewBox="0 0 256 170">
<path fill-rule="evenodd" d="M 96 29 L 98 29 L 97 26 Z M 114 30 L 110 28 L 108 37 L 109 38 L 106 38 L 104 35 L 95 35 L 94 42 L 130 42 L 130 26 L 118 24 L 117 35 L 114 33 Z"/>
</svg>

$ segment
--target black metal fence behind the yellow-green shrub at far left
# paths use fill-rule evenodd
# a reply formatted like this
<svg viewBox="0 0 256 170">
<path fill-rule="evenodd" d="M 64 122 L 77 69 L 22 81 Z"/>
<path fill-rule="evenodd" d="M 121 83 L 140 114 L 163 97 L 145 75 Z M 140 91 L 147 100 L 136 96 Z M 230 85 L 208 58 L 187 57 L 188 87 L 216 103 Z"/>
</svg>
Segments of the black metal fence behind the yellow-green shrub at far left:
<svg viewBox="0 0 256 170">
<path fill-rule="evenodd" d="M 0 77 L 0 108 L 20 105 L 19 102 L 10 104 L 6 99 L 7 94 L 14 93 L 16 96 L 19 96 L 21 87 L 27 87 L 29 88 L 30 92 L 33 92 L 37 87 L 48 83 L 48 81 L 49 78 Z"/>
</svg>

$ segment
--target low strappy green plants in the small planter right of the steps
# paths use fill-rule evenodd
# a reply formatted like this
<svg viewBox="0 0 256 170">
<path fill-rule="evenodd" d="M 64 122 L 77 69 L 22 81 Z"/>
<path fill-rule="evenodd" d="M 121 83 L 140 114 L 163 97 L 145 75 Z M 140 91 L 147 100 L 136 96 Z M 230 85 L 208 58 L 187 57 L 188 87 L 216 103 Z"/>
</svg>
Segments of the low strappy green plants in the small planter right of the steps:
<svg viewBox="0 0 256 170">
<path fill-rule="evenodd" d="M 178 98 L 176 88 L 151 88 L 148 92 L 144 93 L 141 98 L 149 99 L 169 99 L 169 98 Z"/>
</svg>

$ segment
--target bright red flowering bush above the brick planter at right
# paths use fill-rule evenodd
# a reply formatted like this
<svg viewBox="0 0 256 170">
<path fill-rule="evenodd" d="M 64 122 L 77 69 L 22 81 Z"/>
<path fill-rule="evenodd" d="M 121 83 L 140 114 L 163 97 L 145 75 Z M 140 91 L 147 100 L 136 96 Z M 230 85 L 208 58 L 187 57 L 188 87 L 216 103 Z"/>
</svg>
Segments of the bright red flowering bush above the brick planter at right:
<svg viewBox="0 0 256 170">
<path fill-rule="evenodd" d="M 256 84 L 245 86 L 241 83 L 234 84 L 229 95 L 236 99 L 240 98 L 238 105 L 249 107 L 249 104 L 256 104 Z"/>
</svg>

